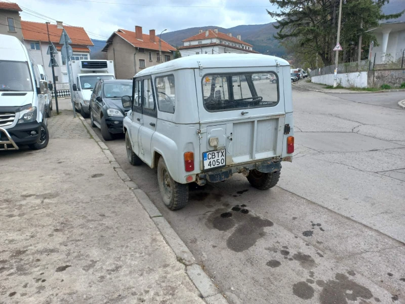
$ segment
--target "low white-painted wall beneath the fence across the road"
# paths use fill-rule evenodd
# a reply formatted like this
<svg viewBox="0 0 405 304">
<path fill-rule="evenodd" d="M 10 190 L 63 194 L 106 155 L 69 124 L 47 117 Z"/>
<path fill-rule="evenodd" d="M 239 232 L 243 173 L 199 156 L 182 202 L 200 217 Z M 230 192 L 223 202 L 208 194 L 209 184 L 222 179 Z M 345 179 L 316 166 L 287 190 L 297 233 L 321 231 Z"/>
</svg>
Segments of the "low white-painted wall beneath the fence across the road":
<svg viewBox="0 0 405 304">
<path fill-rule="evenodd" d="M 311 77 L 311 82 L 315 84 L 333 86 L 334 78 L 334 74 L 319 75 Z M 338 83 L 340 83 L 340 85 L 345 88 L 367 88 L 367 72 L 338 74 Z"/>
</svg>

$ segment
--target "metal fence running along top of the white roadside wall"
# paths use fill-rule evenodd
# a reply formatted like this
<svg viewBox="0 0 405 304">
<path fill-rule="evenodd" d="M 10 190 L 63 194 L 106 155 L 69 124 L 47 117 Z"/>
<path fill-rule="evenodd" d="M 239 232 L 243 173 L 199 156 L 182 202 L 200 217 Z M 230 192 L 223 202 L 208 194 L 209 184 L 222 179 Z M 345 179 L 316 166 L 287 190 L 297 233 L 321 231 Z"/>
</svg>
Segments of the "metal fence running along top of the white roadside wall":
<svg viewBox="0 0 405 304">
<path fill-rule="evenodd" d="M 360 63 L 348 62 L 338 65 L 338 73 L 363 72 L 369 70 L 402 69 L 405 68 L 405 51 L 396 53 L 374 53 L 371 60 L 361 60 Z M 335 73 L 335 65 L 323 66 L 310 71 L 309 75 L 318 76 Z"/>
</svg>

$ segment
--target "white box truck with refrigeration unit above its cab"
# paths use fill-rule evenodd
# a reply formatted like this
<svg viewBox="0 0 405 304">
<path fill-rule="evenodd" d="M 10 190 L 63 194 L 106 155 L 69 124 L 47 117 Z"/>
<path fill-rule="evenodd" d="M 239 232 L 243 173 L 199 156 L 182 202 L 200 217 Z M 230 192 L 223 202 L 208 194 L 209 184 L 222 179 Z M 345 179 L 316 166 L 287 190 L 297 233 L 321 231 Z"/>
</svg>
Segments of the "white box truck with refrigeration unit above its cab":
<svg viewBox="0 0 405 304">
<path fill-rule="evenodd" d="M 69 62 L 74 108 L 84 118 L 90 116 L 90 98 L 94 85 L 100 79 L 115 79 L 111 60 L 72 60 Z"/>
</svg>

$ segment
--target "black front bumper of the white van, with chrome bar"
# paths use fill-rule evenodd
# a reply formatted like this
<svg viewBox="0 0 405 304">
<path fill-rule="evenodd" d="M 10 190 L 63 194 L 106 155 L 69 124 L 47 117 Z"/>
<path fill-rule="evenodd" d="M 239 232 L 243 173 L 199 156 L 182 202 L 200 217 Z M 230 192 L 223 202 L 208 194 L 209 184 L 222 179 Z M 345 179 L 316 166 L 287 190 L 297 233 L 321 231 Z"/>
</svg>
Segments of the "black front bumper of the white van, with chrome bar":
<svg viewBox="0 0 405 304">
<path fill-rule="evenodd" d="M 36 135 L 31 135 L 36 131 Z M 38 122 L 16 125 L 14 128 L 0 128 L 0 150 L 18 149 L 18 145 L 31 144 L 41 136 L 41 124 Z"/>
</svg>

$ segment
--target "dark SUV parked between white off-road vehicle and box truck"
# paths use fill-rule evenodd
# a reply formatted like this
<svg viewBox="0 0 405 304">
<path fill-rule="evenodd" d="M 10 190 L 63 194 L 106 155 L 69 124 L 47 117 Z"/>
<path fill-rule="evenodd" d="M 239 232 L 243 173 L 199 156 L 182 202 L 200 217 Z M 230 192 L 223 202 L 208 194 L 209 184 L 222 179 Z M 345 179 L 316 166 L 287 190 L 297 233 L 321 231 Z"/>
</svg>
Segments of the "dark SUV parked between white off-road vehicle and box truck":
<svg viewBox="0 0 405 304">
<path fill-rule="evenodd" d="M 100 128 L 104 140 L 112 140 L 113 134 L 123 133 L 125 109 L 121 97 L 132 95 L 132 80 L 99 80 L 90 98 L 90 122 Z"/>
</svg>

